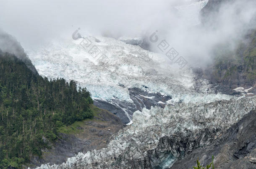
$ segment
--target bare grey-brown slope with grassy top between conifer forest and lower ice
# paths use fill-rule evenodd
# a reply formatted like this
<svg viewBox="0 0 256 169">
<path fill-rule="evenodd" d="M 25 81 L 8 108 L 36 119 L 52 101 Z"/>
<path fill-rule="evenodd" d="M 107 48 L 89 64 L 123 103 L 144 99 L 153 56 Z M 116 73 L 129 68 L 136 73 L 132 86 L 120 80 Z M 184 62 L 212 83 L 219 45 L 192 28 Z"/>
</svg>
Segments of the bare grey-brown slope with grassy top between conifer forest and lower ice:
<svg viewBox="0 0 256 169">
<path fill-rule="evenodd" d="M 94 114 L 92 119 L 76 121 L 69 126 L 58 128 L 59 137 L 49 144 L 50 148 L 42 149 L 41 157 L 32 156 L 26 166 L 32 168 L 46 163 L 62 164 L 79 152 L 86 153 L 93 149 L 106 148 L 112 134 L 118 132 L 124 125 L 110 112 L 93 105 L 90 107 Z"/>
</svg>

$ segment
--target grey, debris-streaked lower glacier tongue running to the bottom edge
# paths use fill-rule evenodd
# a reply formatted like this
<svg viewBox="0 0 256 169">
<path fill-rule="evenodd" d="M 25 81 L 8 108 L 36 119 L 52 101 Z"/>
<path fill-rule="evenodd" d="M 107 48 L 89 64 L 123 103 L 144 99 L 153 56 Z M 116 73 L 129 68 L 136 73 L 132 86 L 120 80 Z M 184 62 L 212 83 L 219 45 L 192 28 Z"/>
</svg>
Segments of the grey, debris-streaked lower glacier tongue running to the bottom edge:
<svg viewBox="0 0 256 169">
<path fill-rule="evenodd" d="M 78 153 L 61 165 L 44 164 L 37 169 L 170 168 L 194 149 L 211 146 L 255 109 L 256 97 L 144 108 L 134 112 L 133 124 L 114 134 L 107 148 Z M 222 151 L 226 149 L 230 148 Z"/>
</svg>

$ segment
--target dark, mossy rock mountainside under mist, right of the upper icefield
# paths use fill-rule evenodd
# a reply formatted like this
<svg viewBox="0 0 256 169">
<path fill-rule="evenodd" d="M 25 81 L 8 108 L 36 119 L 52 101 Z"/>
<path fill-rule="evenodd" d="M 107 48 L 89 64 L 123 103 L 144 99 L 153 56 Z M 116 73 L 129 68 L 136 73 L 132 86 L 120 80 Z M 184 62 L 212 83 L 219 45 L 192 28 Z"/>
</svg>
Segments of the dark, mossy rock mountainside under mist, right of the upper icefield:
<svg viewBox="0 0 256 169">
<path fill-rule="evenodd" d="M 221 58 L 216 58 L 214 63 L 205 70 L 195 70 L 203 78 L 211 81 L 222 93 L 236 94 L 238 87 L 249 89 L 248 93 L 256 93 L 256 30 L 248 33 L 246 43 L 241 42 L 240 48 L 235 49 L 234 55 L 240 61 L 234 61 L 221 53 Z M 225 60 L 225 61 L 224 61 Z M 200 75 L 200 73 L 202 75 Z"/>
</svg>

